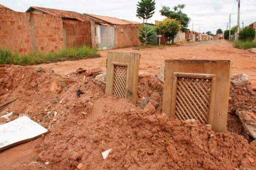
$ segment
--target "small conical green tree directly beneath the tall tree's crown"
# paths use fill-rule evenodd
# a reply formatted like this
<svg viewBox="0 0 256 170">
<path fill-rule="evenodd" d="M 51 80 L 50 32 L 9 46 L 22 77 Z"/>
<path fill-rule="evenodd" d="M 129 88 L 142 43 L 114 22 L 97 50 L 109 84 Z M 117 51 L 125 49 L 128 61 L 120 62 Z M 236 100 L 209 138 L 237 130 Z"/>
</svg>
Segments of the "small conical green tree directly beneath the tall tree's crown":
<svg viewBox="0 0 256 170">
<path fill-rule="evenodd" d="M 142 42 L 144 45 L 147 45 L 149 42 L 151 42 L 152 37 L 154 36 L 153 28 L 148 25 L 142 26 L 139 30 L 139 33 L 140 42 Z"/>
</svg>

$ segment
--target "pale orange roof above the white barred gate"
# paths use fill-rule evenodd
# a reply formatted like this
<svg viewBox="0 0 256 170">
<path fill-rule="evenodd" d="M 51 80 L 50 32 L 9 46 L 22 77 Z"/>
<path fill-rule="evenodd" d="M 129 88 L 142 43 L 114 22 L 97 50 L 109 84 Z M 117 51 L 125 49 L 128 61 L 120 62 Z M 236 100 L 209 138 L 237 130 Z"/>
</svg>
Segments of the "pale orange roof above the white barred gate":
<svg viewBox="0 0 256 170">
<path fill-rule="evenodd" d="M 139 22 L 136 21 L 129 21 L 129 20 L 121 20 L 115 17 L 107 17 L 107 16 L 102 16 L 102 15 L 95 15 L 95 14 L 84 14 L 86 16 L 94 17 L 96 19 L 105 21 L 106 23 L 110 24 L 119 24 L 119 25 L 126 25 L 126 24 L 138 24 Z"/>
</svg>

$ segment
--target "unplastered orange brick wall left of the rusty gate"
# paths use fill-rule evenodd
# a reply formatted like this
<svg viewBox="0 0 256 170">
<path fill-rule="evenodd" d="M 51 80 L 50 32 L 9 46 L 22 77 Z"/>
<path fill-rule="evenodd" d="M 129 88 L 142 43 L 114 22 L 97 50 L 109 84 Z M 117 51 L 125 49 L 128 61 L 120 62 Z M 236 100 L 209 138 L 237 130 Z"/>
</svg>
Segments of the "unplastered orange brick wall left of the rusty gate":
<svg viewBox="0 0 256 170">
<path fill-rule="evenodd" d="M 27 54 L 63 47 L 61 17 L 0 10 L 0 49 Z"/>
</svg>

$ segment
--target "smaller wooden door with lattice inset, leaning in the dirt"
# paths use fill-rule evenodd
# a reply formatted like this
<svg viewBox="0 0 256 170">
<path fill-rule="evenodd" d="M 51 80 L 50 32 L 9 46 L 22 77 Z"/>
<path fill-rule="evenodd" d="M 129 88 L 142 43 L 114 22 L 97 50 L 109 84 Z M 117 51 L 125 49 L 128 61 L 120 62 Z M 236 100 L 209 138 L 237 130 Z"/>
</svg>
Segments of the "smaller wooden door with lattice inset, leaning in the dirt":
<svg viewBox="0 0 256 170">
<path fill-rule="evenodd" d="M 139 65 L 140 54 L 109 51 L 105 93 L 123 97 L 136 104 Z"/>
</svg>

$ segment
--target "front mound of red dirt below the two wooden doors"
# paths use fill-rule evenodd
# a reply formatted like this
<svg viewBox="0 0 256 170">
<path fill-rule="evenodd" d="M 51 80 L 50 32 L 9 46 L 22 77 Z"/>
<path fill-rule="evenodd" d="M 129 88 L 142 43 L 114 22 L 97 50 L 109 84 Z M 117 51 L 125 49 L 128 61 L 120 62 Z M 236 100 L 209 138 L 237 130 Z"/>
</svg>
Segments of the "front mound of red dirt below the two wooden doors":
<svg viewBox="0 0 256 170">
<path fill-rule="evenodd" d="M 108 102 L 103 102 L 108 101 Z M 120 104 L 124 108 L 120 111 Z M 214 133 L 164 114 L 147 115 L 131 102 L 105 96 L 95 102 L 95 121 L 72 113 L 38 146 L 45 168 L 73 170 L 233 170 L 256 167 L 256 146 L 234 133 Z M 102 114 L 104 113 L 104 114 Z M 172 148 L 172 156 L 166 147 Z M 101 152 L 112 148 L 106 160 Z"/>
</svg>

